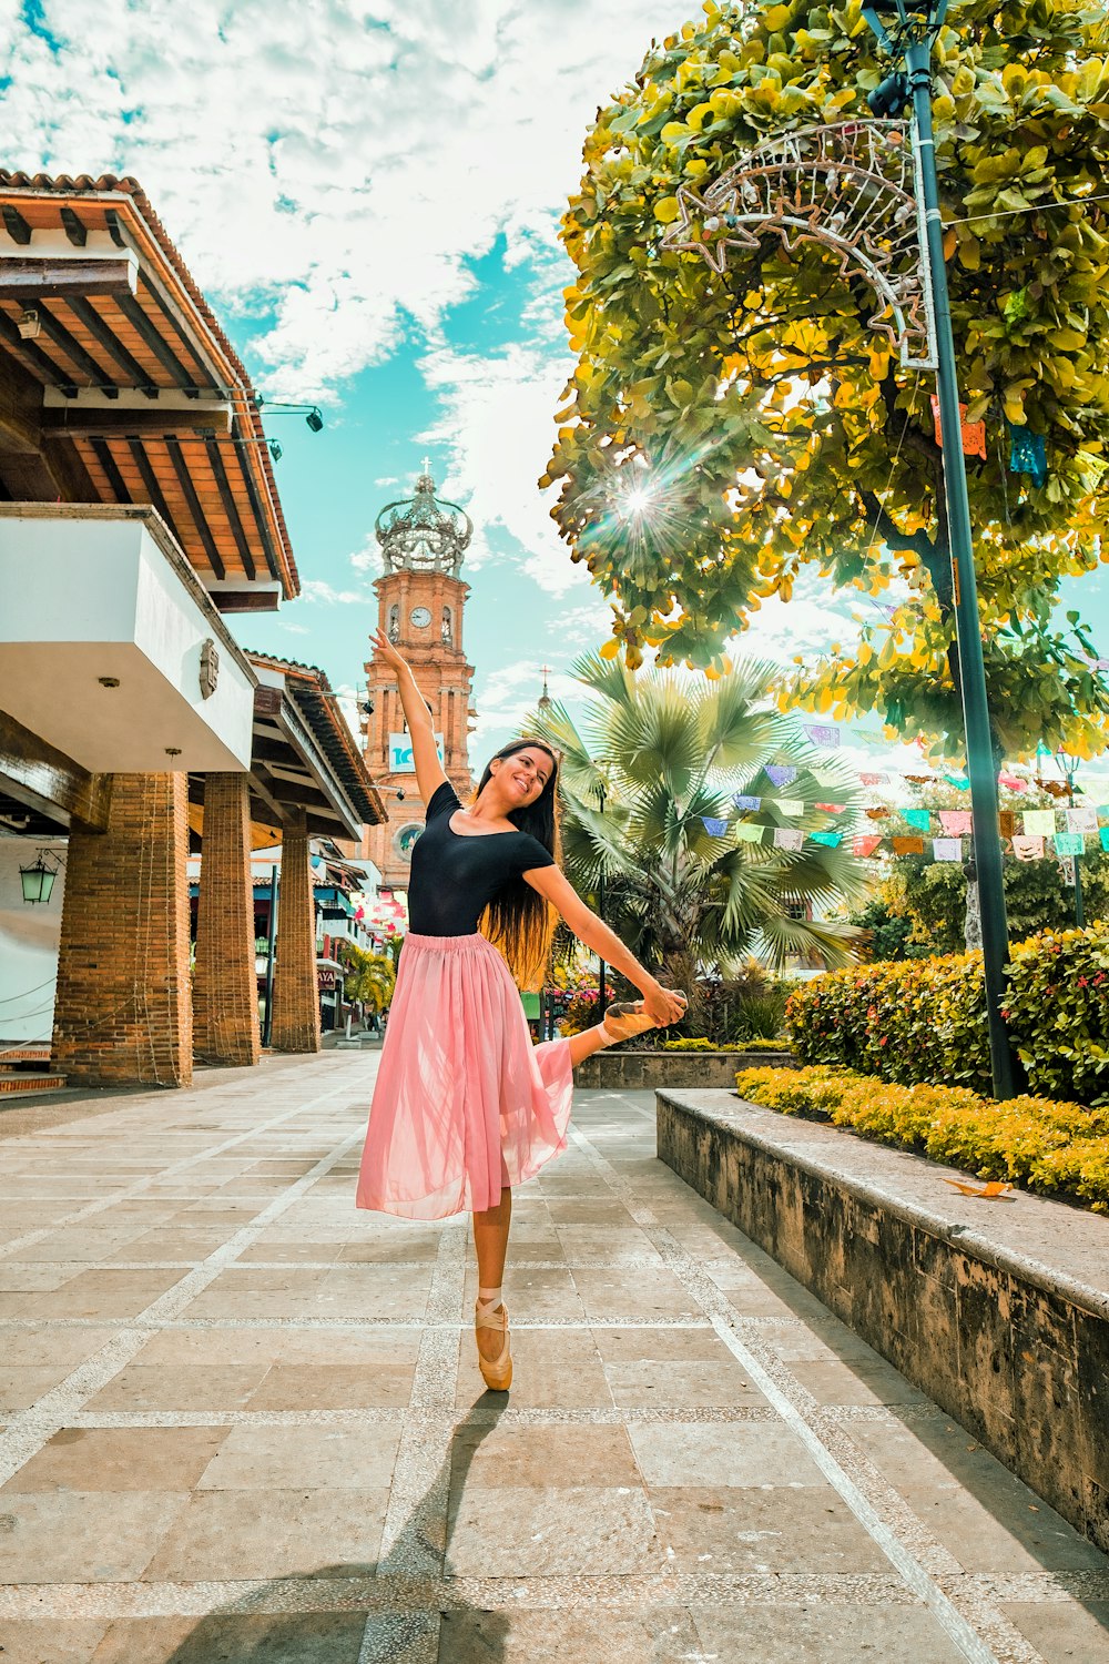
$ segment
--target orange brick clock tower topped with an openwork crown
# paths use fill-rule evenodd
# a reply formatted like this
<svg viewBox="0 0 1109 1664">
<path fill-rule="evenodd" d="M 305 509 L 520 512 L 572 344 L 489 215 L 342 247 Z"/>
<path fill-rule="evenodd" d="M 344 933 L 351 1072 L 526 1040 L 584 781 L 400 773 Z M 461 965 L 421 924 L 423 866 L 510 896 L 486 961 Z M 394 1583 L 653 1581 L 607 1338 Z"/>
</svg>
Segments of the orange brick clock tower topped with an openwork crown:
<svg viewBox="0 0 1109 1664">
<path fill-rule="evenodd" d="M 374 524 L 384 561 L 374 584 L 377 626 L 412 666 L 431 706 L 442 767 L 466 800 L 472 792 L 467 740 L 474 667 L 462 651 L 462 611 L 471 591 L 459 574 L 474 526 L 457 504 L 436 498 L 427 458 L 422 466 L 416 494 L 386 504 Z M 366 764 L 389 810 L 387 825 L 369 829 L 366 855 L 381 869 L 384 884 L 406 890 L 426 805 L 416 785 L 396 676 L 377 656 L 364 669 Z"/>
</svg>

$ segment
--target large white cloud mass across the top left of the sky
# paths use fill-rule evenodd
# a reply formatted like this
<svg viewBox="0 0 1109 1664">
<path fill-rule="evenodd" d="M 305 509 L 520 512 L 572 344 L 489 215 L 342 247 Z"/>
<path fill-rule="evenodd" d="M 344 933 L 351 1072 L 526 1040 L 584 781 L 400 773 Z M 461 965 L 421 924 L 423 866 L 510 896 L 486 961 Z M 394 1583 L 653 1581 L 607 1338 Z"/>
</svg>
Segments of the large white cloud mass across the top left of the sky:
<svg viewBox="0 0 1109 1664">
<path fill-rule="evenodd" d="M 5 8 L 5 165 L 133 173 L 268 391 L 321 398 L 434 328 L 504 235 L 549 258 L 595 106 L 673 5 L 43 0 Z M 57 43 L 43 38 L 43 28 Z M 173 43 L 168 50 L 166 43 Z"/>
</svg>

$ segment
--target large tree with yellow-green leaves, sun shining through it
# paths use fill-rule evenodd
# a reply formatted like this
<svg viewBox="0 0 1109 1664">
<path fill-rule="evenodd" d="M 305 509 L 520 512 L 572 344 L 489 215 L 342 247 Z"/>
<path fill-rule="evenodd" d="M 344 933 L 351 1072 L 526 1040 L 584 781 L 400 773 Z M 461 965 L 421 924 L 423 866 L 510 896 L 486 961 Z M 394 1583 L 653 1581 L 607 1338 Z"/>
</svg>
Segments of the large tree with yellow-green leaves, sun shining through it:
<svg viewBox="0 0 1109 1664">
<path fill-rule="evenodd" d="M 870 326 L 873 290 L 768 233 L 723 273 L 663 246 L 703 188 L 785 131 L 870 120 L 888 73 L 858 0 L 708 0 L 602 108 L 564 218 L 579 354 L 544 483 L 637 666 L 727 667 L 723 642 L 798 576 L 883 599 L 783 691 L 958 755 L 963 717 L 929 374 Z M 986 679 L 999 750 L 1091 755 L 1109 689 L 1061 586 L 1109 561 L 1109 22 L 1077 0 L 968 0 L 939 32 L 934 120 Z M 1046 479 L 1013 473 L 1021 429 Z"/>
</svg>

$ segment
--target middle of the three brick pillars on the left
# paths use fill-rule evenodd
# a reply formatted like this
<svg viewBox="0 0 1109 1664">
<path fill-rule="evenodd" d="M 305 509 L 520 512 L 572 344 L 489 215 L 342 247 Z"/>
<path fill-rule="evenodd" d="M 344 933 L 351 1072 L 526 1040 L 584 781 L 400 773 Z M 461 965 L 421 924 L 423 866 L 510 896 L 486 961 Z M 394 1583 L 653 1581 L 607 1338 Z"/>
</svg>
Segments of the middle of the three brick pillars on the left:
<svg viewBox="0 0 1109 1664">
<path fill-rule="evenodd" d="M 254 973 L 251 812 L 244 774 L 205 775 L 193 1053 L 226 1067 L 261 1057 Z"/>
</svg>

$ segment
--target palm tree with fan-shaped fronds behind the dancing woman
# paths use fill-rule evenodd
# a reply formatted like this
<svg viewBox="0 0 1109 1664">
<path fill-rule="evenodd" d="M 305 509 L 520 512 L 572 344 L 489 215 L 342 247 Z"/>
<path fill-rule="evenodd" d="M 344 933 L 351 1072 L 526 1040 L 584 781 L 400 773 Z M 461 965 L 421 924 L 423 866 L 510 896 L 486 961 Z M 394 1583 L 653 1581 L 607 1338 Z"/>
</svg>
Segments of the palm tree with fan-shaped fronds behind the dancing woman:
<svg viewBox="0 0 1109 1664">
<path fill-rule="evenodd" d="M 858 785 L 845 764 L 813 750 L 791 717 L 771 704 L 776 666 L 740 662 L 708 681 L 682 672 L 640 672 L 587 654 L 574 666 L 592 692 L 582 730 L 564 706 L 534 717 L 532 732 L 562 750 L 562 847 L 567 874 L 585 894 L 604 884 L 605 919 L 672 987 L 695 995 L 698 972 L 728 975 L 750 953 L 775 970 L 801 955 L 850 963 L 856 930 L 813 920 L 868 890 L 846 845 L 786 850 L 737 842 L 737 822 L 843 834 L 855 819 Z M 791 764 L 780 789 L 768 765 Z M 735 807 L 735 794 L 800 800 L 785 815 L 775 802 Z M 835 814 L 818 809 L 833 800 Z M 705 819 L 728 822 L 713 835 Z M 713 829 L 715 830 L 715 829 Z M 687 1025 L 697 1030 L 692 1007 Z"/>
</svg>

